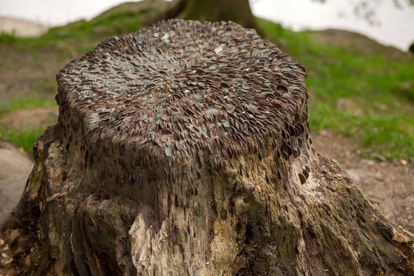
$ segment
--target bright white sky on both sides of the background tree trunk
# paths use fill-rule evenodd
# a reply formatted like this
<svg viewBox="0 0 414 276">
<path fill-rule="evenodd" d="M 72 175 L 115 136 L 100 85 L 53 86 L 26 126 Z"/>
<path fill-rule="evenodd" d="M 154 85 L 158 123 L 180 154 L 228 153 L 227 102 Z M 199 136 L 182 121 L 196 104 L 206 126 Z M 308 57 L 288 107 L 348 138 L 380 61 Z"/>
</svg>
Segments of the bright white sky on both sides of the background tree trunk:
<svg viewBox="0 0 414 276">
<path fill-rule="evenodd" d="M 320 4 L 311 0 L 250 0 L 250 3 L 255 15 L 282 23 L 294 30 L 353 30 L 402 50 L 407 50 L 414 42 L 414 8 L 398 10 L 393 6 L 392 0 L 384 0 L 377 10 L 377 19 L 381 26 L 370 26 L 353 14 L 352 3 L 355 1 L 357 0 L 327 0 Z M 48 26 L 57 26 L 77 19 L 91 19 L 122 2 L 124 1 L 0 0 L 0 16 L 21 17 Z M 346 16 L 340 17 L 339 14 Z"/>
</svg>

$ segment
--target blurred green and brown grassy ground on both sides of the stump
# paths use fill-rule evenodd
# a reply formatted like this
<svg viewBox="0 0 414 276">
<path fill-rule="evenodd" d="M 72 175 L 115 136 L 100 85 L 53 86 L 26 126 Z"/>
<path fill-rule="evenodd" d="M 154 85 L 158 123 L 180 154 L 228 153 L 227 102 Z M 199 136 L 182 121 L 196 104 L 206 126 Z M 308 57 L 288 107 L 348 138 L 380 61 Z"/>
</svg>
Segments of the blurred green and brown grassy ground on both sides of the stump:
<svg viewBox="0 0 414 276">
<path fill-rule="evenodd" d="M 52 28 L 37 38 L 0 34 L 0 56 L 6 57 L 0 61 L 0 81 L 6 83 L 3 90 L 13 90 L 6 92 L 14 95 L 0 97 L 0 117 L 16 109 L 55 104 L 55 74 L 59 69 L 103 39 L 143 27 L 139 18 L 140 12 L 124 6 L 92 21 Z M 403 83 L 414 80 L 414 57 L 390 59 L 378 50 L 367 53 L 357 48 L 326 46 L 311 39 L 311 31 L 293 32 L 263 19 L 259 24 L 268 39 L 306 67 L 312 130 L 329 129 L 355 137 L 369 155 L 379 153 L 389 159 L 414 161 L 414 92 L 402 88 Z M 23 70 L 27 77 L 10 77 L 12 70 Z M 3 90 L 0 87 L 0 93 Z M 352 108 L 338 108 L 341 99 L 351 100 Z M 36 128 L 0 126 L 0 139 L 31 151 L 40 132 Z"/>
</svg>

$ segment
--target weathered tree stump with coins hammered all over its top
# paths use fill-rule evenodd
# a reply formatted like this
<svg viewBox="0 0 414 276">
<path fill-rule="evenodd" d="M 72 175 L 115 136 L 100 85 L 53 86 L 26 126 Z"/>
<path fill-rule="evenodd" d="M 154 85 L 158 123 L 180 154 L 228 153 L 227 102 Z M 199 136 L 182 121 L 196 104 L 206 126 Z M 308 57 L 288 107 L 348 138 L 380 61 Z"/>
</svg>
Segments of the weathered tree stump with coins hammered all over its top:
<svg viewBox="0 0 414 276">
<path fill-rule="evenodd" d="M 414 275 L 413 235 L 311 148 L 305 79 L 235 23 L 103 41 L 57 75 L 3 273 Z"/>
</svg>

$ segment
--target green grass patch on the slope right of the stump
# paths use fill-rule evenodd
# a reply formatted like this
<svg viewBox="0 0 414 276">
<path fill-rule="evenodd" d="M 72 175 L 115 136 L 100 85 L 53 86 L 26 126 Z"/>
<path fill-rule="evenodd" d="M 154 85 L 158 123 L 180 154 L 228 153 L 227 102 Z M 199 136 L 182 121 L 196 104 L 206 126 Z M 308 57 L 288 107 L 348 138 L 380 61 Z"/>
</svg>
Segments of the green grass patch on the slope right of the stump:
<svg viewBox="0 0 414 276">
<path fill-rule="evenodd" d="M 325 128 L 357 137 L 367 155 L 414 161 L 414 103 L 412 90 L 400 90 L 414 80 L 414 59 L 392 61 L 380 53 L 358 55 L 355 50 L 313 43 L 311 32 L 284 30 L 260 20 L 271 39 L 286 41 L 286 52 L 301 61 L 308 72 L 306 87 L 313 93 L 309 105 L 311 129 Z M 337 109 L 338 99 L 351 99 L 355 109 Z"/>
</svg>

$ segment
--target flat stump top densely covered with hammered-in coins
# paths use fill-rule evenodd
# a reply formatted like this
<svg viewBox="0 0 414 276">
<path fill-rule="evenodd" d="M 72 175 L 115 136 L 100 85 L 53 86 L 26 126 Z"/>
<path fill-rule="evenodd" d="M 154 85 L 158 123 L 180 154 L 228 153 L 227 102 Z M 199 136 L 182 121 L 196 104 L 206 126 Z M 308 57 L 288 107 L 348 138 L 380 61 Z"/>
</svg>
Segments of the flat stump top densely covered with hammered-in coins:
<svg viewBox="0 0 414 276">
<path fill-rule="evenodd" d="M 68 135 L 81 131 L 84 141 L 75 146 L 87 150 L 88 164 L 97 161 L 103 139 L 119 149 L 103 148 L 103 157 L 121 166 L 125 152 L 127 163 L 181 164 L 184 173 L 200 152 L 216 167 L 246 154 L 301 157 L 305 164 L 305 79 L 298 61 L 254 30 L 163 21 L 103 41 L 59 72 L 59 122 L 71 128 L 63 141 L 70 148 Z"/>
</svg>

